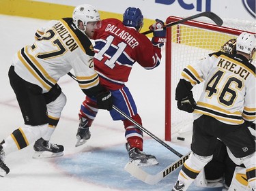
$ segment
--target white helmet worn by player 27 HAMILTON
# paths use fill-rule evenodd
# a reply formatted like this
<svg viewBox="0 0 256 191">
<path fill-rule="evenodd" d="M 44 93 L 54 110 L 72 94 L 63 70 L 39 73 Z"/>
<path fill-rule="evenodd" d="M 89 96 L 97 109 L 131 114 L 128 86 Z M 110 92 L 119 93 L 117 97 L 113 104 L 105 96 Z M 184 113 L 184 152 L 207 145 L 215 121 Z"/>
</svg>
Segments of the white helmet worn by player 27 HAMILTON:
<svg viewBox="0 0 256 191">
<path fill-rule="evenodd" d="M 76 25 L 77 29 L 79 29 L 78 22 L 79 22 L 79 20 L 81 20 L 83 22 L 83 25 L 85 26 L 85 30 L 86 30 L 87 22 L 100 21 L 100 14 L 99 14 L 98 10 L 96 10 L 95 7 L 88 5 L 88 4 L 83 4 L 83 5 L 78 5 L 74 8 L 72 18 L 73 18 L 73 22 Z M 81 29 L 79 29 L 79 30 L 81 30 Z M 82 32 L 85 33 L 85 31 L 82 31 Z"/>
</svg>

